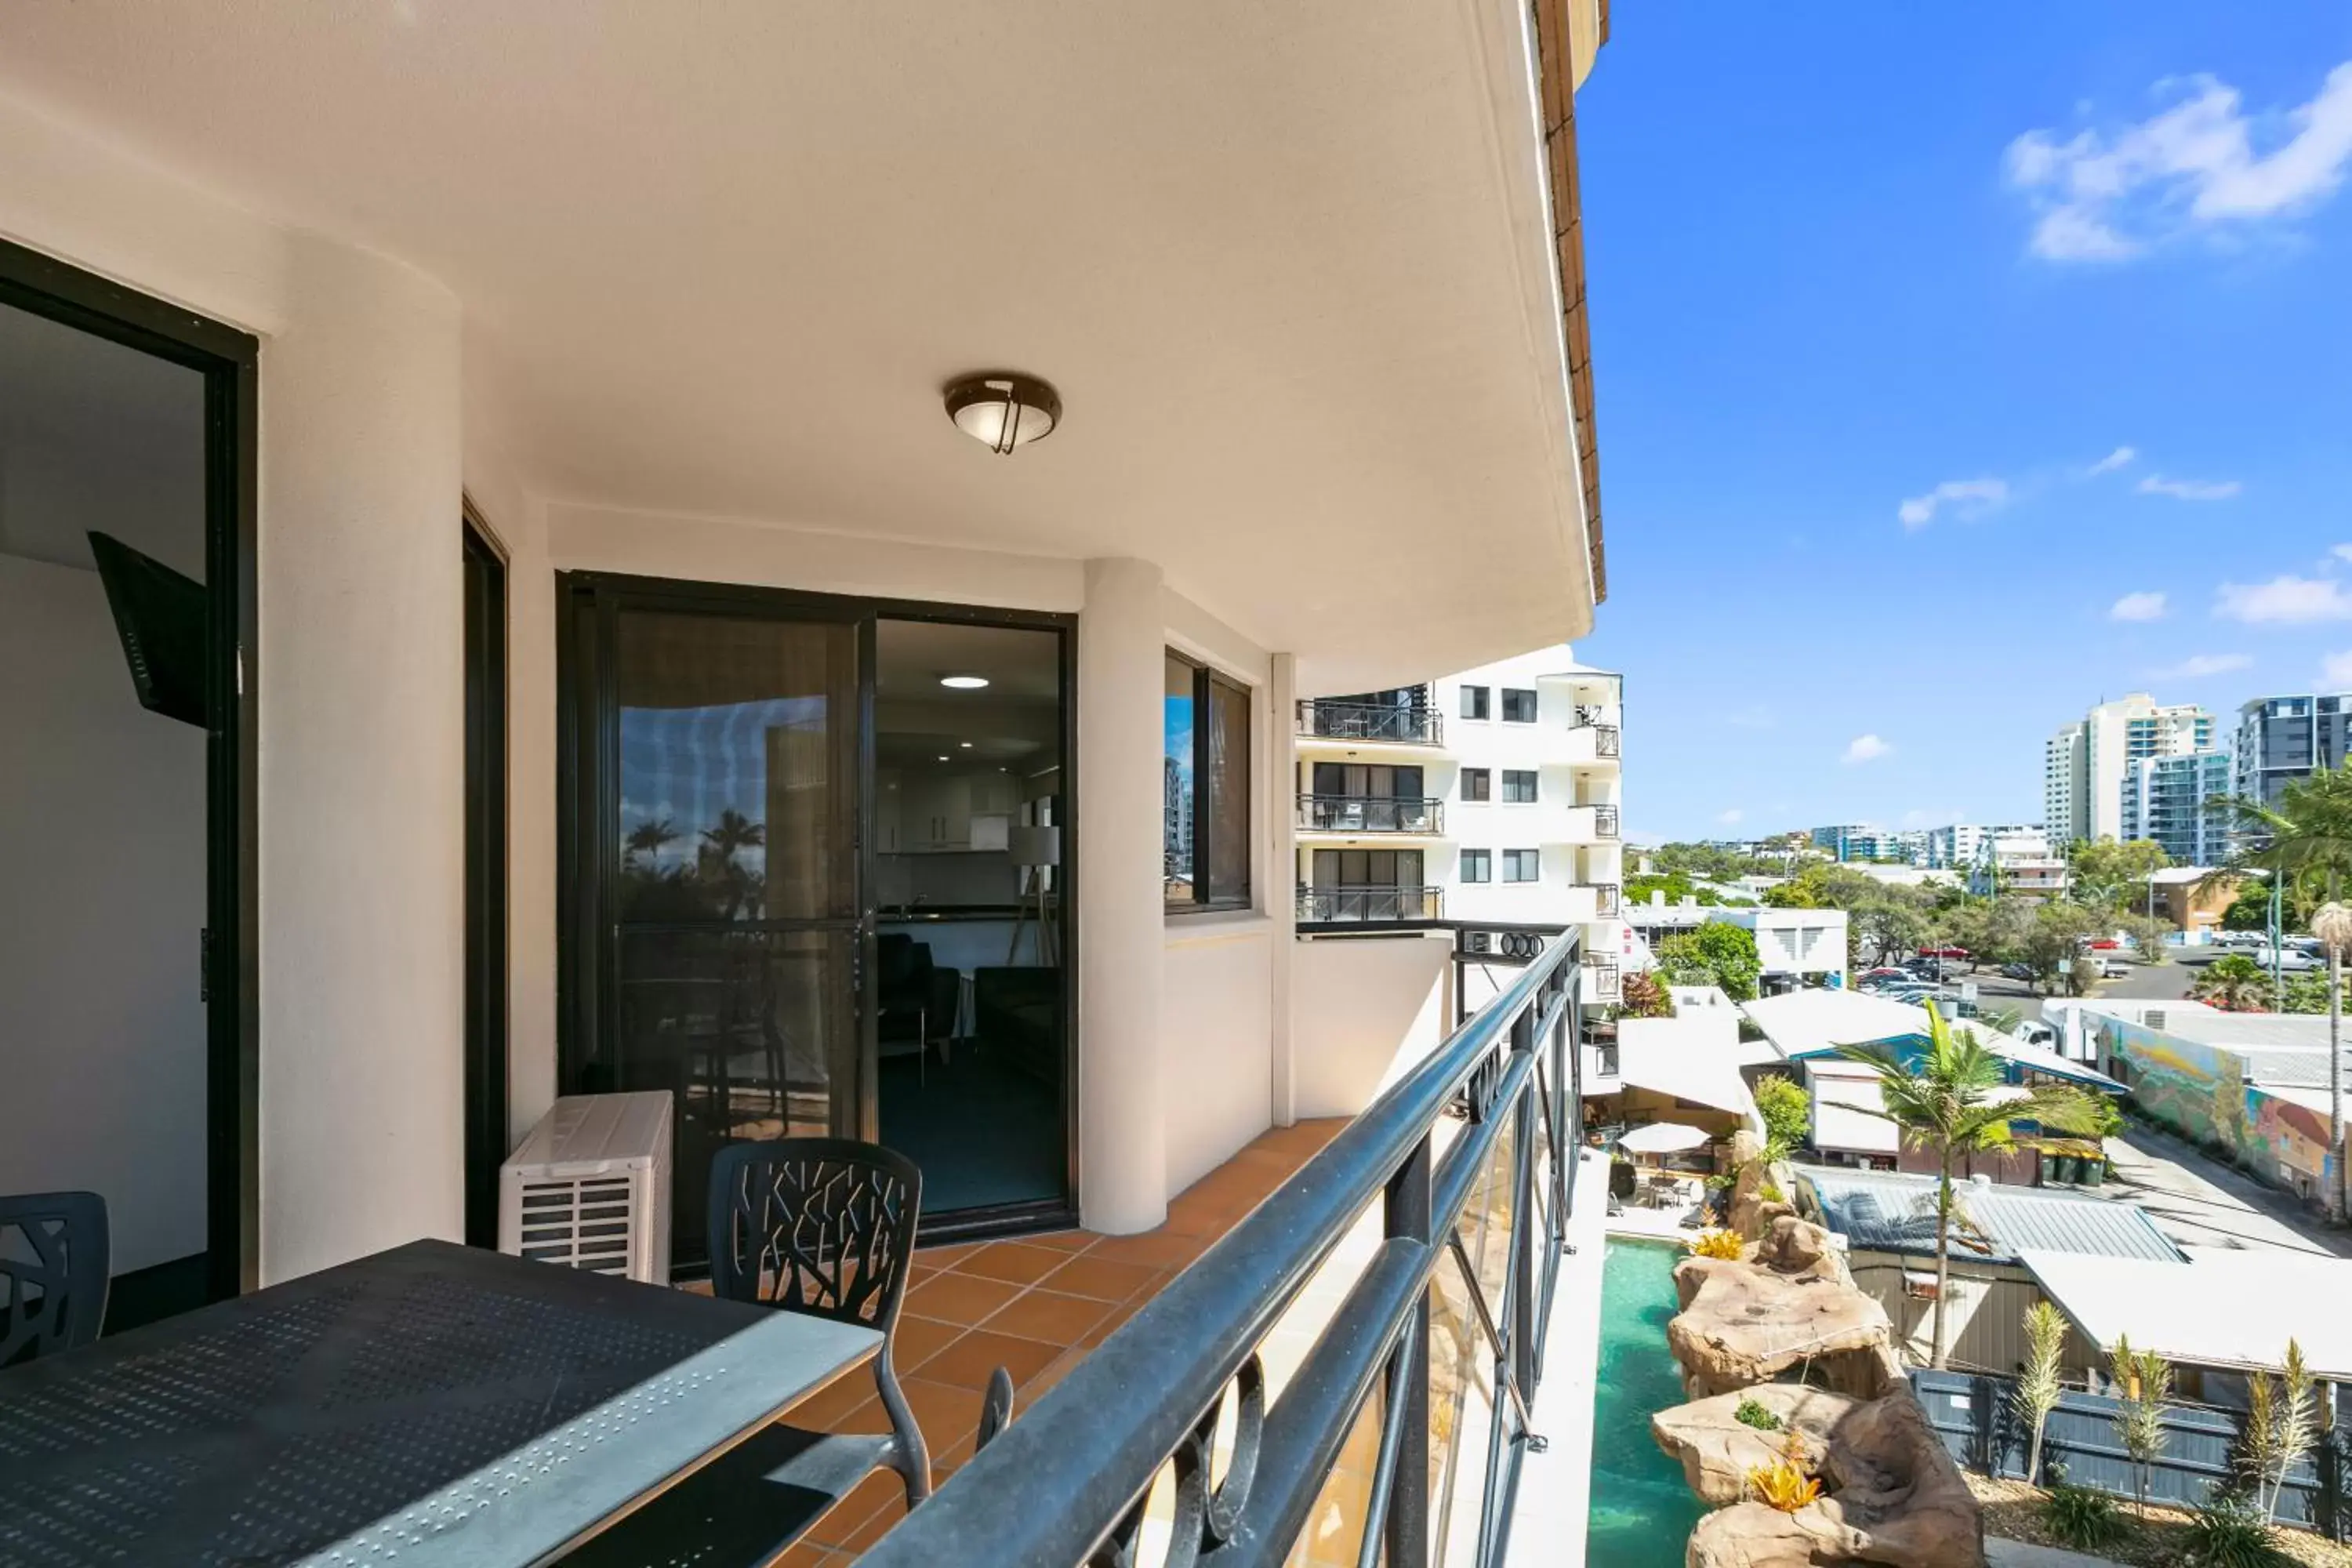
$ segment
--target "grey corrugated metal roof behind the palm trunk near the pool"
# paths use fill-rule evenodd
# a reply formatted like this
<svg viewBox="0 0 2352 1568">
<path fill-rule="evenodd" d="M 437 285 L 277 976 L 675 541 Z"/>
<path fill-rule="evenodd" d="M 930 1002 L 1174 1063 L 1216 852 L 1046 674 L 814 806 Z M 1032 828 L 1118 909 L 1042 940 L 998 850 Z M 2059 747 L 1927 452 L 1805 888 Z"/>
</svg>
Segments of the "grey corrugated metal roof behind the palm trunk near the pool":
<svg viewBox="0 0 2352 1568">
<path fill-rule="evenodd" d="M 1797 1180 L 1813 1190 L 1823 1225 L 1849 1246 L 1875 1253 L 1936 1251 L 1936 1178 L 1900 1171 L 1837 1171 L 1802 1166 Z M 2034 1187 L 1955 1182 L 1959 1206 L 1990 1251 L 1959 1246 L 1952 1255 L 2016 1262 L 2018 1253 L 2084 1253 L 2180 1262 L 2180 1248 L 2124 1199 L 2093 1199 Z"/>
</svg>

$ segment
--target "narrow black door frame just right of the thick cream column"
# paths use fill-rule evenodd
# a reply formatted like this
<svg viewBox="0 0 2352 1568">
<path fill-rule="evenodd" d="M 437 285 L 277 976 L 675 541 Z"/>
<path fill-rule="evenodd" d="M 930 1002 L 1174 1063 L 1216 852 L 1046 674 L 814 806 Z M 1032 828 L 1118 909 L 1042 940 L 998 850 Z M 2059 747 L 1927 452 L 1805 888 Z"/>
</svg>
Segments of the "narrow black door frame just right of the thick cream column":
<svg viewBox="0 0 2352 1568">
<path fill-rule="evenodd" d="M 466 550 L 466 1246 L 499 1246 L 508 1154 L 506 545 L 468 501 Z"/>
</svg>

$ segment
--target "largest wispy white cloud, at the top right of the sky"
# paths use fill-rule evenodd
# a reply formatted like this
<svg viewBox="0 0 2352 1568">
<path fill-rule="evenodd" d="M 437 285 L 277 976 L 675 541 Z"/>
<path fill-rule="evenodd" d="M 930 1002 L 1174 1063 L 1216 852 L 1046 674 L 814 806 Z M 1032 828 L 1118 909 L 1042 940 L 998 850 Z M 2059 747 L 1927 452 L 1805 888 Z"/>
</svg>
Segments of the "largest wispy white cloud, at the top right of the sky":
<svg viewBox="0 0 2352 1568">
<path fill-rule="evenodd" d="M 2034 129 L 2009 143 L 2009 183 L 2037 214 L 2034 256 L 2124 261 L 2178 235 L 2286 216 L 2333 195 L 2352 165 L 2352 61 L 2284 115 L 2249 115 L 2239 92 L 2211 75 L 2157 92 L 2176 101 L 2136 125 L 2067 141 Z"/>
</svg>

